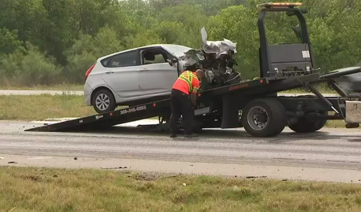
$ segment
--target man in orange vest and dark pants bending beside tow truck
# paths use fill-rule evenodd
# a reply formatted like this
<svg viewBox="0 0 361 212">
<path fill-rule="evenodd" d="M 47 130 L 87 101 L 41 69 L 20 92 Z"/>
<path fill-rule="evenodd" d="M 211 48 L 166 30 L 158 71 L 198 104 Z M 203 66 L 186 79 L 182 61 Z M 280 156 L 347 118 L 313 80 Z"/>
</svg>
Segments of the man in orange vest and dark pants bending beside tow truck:
<svg viewBox="0 0 361 212">
<path fill-rule="evenodd" d="M 178 119 L 183 117 L 185 137 L 197 137 L 193 133 L 193 107 L 197 107 L 197 91 L 200 87 L 200 80 L 204 77 L 204 71 L 198 69 L 196 72 L 184 71 L 175 81 L 170 94 L 170 130 L 171 138 L 176 137 L 178 132 Z M 191 99 L 189 98 L 191 95 Z M 193 107 L 192 107 L 193 106 Z"/>
</svg>

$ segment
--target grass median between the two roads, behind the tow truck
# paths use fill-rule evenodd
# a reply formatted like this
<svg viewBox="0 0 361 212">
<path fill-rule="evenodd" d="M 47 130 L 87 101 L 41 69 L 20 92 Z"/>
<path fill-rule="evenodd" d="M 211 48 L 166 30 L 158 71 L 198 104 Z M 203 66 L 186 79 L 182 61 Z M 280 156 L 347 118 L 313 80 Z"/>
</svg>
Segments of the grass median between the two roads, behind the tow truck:
<svg viewBox="0 0 361 212">
<path fill-rule="evenodd" d="M 83 96 L 66 94 L 3 95 L 0 98 L 0 111 L 0 120 L 25 121 L 97 114 L 93 107 L 85 105 Z M 329 120 L 326 127 L 345 127 L 345 123 L 343 120 Z"/>
</svg>

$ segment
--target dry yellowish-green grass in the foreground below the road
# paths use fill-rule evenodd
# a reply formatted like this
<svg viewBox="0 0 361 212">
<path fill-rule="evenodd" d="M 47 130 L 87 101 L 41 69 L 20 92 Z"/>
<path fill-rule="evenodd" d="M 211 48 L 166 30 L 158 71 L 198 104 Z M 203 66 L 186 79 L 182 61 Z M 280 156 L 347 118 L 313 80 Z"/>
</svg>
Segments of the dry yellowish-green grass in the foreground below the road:
<svg viewBox="0 0 361 212">
<path fill-rule="evenodd" d="M 0 173 L 1 211 L 361 210 L 355 184 L 90 169 L 0 167 Z"/>
</svg>

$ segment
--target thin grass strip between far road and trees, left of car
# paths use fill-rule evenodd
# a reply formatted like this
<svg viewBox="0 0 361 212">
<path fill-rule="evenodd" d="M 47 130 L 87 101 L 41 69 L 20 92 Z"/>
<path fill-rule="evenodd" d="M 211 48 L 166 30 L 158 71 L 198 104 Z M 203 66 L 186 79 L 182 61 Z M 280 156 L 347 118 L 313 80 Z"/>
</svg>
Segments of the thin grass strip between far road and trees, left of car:
<svg viewBox="0 0 361 212">
<path fill-rule="evenodd" d="M 0 90 L 80 90 L 84 89 L 84 85 L 76 84 L 58 84 L 58 85 L 35 85 L 32 87 L 15 86 L 15 85 L 0 85 Z"/>
</svg>

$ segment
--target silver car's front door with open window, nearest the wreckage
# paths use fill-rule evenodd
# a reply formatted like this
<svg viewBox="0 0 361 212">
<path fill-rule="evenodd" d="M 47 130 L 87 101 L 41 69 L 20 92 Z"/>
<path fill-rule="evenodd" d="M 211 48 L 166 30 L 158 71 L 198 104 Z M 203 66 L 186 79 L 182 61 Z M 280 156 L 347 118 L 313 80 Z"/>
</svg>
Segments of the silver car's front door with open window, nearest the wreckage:
<svg viewBox="0 0 361 212">
<path fill-rule="evenodd" d="M 144 55 L 147 52 L 154 52 L 153 61 L 145 60 Z M 142 65 L 139 66 L 139 85 L 141 91 L 144 95 L 152 96 L 169 93 L 178 78 L 177 64 L 171 66 L 166 61 L 167 58 L 172 57 L 171 54 L 161 47 L 143 49 L 140 53 Z"/>
</svg>

